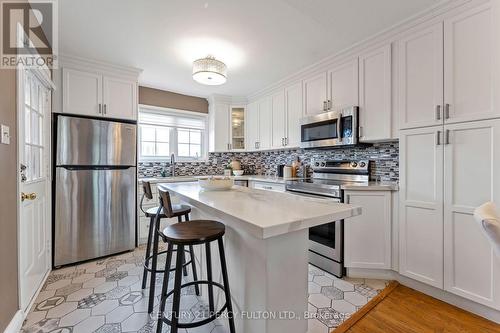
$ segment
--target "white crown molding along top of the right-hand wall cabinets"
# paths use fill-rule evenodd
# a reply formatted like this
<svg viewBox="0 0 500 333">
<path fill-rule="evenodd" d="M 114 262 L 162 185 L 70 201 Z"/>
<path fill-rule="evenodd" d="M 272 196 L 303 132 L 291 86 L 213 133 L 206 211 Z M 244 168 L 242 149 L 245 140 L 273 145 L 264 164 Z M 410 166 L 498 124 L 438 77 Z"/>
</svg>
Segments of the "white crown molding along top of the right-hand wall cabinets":
<svg viewBox="0 0 500 333">
<path fill-rule="evenodd" d="M 340 63 L 342 61 L 347 60 L 346 58 L 348 57 L 353 57 L 356 56 L 357 54 L 361 53 L 362 51 L 365 51 L 370 48 L 375 48 L 380 46 L 382 43 L 392 43 L 394 42 L 399 35 L 402 33 L 410 30 L 411 28 L 414 28 L 415 26 L 418 26 L 422 23 L 431 21 L 431 20 L 438 20 L 442 18 L 445 14 L 448 12 L 461 7 L 467 3 L 484 3 L 487 0 L 442 0 L 439 1 L 438 3 L 434 4 L 433 6 L 393 25 L 392 27 L 389 27 L 383 31 L 380 31 L 371 37 L 368 37 L 354 45 L 351 45 L 350 47 L 334 53 L 332 55 L 329 55 L 328 57 L 311 64 L 298 72 L 295 72 L 294 74 L 291 74 L 271 85 L 268 85 L 267 87 L 260 89 L 254 93 L 251 93 L 247 96 L 248 101 L 255 101 L 259 99 L 260 97 L 263 97 L 274 90 L 278 89 L 283 89 L 287 85 L 291 85 L 297 82 L 301 82 L 304 78 L 308 76 L 312 76 L 314 74 L 317 74 L 320 71 L 326 70 L 328 67 Z"/>
</svg>

